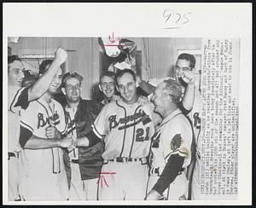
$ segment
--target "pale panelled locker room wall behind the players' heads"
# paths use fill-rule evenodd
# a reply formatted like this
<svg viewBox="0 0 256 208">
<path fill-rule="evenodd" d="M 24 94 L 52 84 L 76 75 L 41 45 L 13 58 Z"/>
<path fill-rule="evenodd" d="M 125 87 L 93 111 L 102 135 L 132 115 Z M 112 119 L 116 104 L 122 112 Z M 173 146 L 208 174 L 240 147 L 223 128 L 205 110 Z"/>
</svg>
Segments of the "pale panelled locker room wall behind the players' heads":
<svg viewBox="0 0 256 208">
<path fill-rule="evenodd" d="M 178 49 L 201 49 L 201 38 L 130 39 L 137 43 L 137 50 L 142 51 L 142 76 L 144 79 L 173 76 L 172 67 L 177 59 Z M 102 52 L 102 49 L 97 38 L 20 37 L 19 43 L 9 43 L 9 46 L 14 55 L 24 52 L 34 53 L 35 51 L 49 54 L 53 53 L 58 46 L 67 49 L 68 68 L 79 72 L 84 77 L 82 97 L 90 99 L 92 86 L 98 83 L 100 75 L 99 52 Z"/>
</svg>

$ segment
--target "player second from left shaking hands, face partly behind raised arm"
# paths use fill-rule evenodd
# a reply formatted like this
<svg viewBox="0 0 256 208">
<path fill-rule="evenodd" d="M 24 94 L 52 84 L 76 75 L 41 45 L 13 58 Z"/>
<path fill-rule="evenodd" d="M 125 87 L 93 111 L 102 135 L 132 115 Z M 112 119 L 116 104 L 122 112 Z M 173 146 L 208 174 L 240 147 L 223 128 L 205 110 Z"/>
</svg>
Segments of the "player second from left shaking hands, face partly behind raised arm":
<svg viewBox="0 0 256 208">
<path fill-rule="evenodd" d="M 61 138 L 66 128 L 61 104 L 51 96 L 61 85 L 59 67 L 49 90 L 30 102 L 20 118 L 20 193 L 24 200 L 67 200 L 67 175 L 62 148 L 73 147 L 73 137 Z M 61 148 L 62 147 L 62 148 Z"/>
</svg>

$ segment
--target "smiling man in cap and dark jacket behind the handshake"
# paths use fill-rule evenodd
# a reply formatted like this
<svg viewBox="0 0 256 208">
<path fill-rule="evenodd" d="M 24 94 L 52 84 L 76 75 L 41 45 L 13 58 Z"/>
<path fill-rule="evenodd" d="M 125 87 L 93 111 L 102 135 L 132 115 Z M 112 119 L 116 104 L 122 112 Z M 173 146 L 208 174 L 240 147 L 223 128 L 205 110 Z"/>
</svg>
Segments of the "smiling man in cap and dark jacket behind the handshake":
<svg viewBox="0 0 256 208">
<path fill-rule="evenodd" d="M 61 88 L 66 95 L 66 101 L 61 103 L 65 110 L 66 134 L 73 135 L 76 141 L 90 131 L 91 124 L 103 107 L 100 101 L 81 98 L 82 80 L 79 73 L 67 72 L 63 76 Z M 70 153 L 64 153 L 70 200 L 97 199 L 97 180 L 102 170 L 103 149 L 103 142 L 98 142 L 92 147 L 78 145 Z"/>
</svg>

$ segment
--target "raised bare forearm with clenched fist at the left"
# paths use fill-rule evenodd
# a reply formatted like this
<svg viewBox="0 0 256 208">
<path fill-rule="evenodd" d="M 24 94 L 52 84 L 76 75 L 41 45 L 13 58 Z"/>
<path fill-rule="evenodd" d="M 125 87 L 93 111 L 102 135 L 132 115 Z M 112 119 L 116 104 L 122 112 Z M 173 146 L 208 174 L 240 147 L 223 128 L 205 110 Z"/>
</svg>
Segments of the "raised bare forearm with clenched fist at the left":
<svg viewBox="0 0 256 208">
<path fill-rule="evenodd" d="M 61 47 L 58 48 L 55 52 L 55 60 L 49 66 L 49 69 L 44 72 L 37 82 L 28 89 L 28 101 L 33 101 L 38 99 L 44 94 L 46 90 L 49 89 L 49 84 L 52 79 L 55 77 L 55 73 L 60 68 L 61 64 L 67 59 L 67 52 Z"/>
</svg>

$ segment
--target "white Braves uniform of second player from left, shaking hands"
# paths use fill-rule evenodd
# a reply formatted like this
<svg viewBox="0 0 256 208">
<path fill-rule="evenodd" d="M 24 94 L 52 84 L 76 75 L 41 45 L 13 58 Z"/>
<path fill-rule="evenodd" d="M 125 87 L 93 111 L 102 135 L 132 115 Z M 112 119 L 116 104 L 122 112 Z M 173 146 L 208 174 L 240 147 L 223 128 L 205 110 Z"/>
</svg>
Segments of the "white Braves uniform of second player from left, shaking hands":
<svg viewBox="0 0 256 208">
<path fill-rule="evenodd" d="M 32 101 L 22 113 L 20 126 L 32 135 L 47 139 L 45 130 L 55 124 L 59 131 L 65 130 L 63 108 L 57 101 L 49 103 L 39 98 Z M 20 192 L 25 200 L 67 200 L 67 175 L 60 147 L 46 149 L 23 149 L 21 151 L 22 171 Z"/>
</svg>

